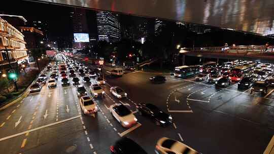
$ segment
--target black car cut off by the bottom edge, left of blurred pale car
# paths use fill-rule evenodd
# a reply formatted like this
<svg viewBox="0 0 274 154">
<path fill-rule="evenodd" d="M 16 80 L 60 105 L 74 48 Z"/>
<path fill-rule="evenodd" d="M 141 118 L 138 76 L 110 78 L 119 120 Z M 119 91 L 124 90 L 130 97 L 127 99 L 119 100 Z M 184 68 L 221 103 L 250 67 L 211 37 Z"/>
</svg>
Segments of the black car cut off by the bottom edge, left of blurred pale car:
<svg viewBox="0 0 274 154">
<path fill-rule="evenodd" d="M 148 154 L 139 144 L 133 140 L 123 137 L 110 146 L 112 154 Z"/>
</svg>

